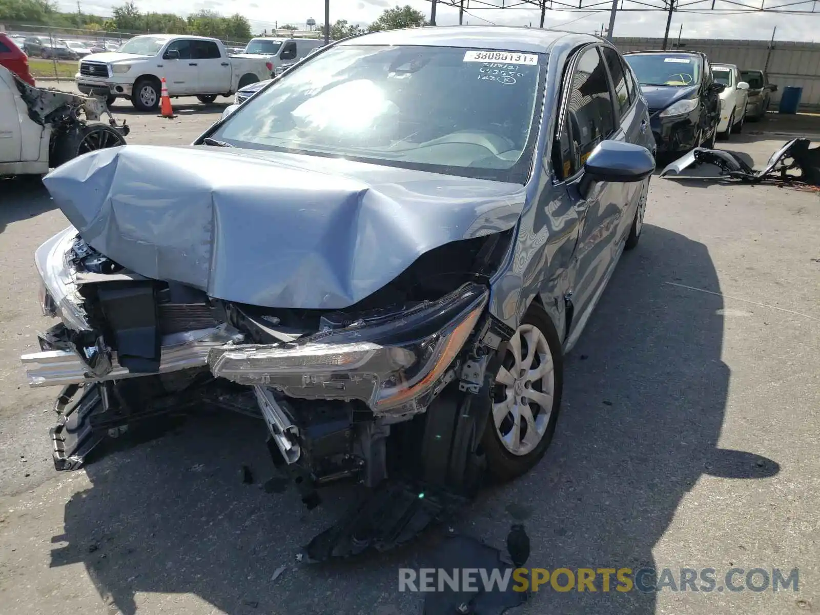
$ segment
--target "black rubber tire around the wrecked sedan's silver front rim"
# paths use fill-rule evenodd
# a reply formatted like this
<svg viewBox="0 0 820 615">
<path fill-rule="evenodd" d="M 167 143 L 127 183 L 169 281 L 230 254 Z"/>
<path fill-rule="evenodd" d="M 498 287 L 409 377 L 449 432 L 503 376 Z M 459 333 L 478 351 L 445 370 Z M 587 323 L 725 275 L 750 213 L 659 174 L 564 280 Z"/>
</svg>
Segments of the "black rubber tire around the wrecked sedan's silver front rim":
<svg viewBox="0 0 820 615">
<path fill-rule="evenodd" d="M 553 322 L 550 320 L 544 308 L 537 303 L 532 303 L 530 308 L 526 311 L 522 319 L 522 325 L 532 325 L 544 335 L 549 352 L 553 357 L 553 407 L 550 412 L 549 420 L 544 430 L 544 435 L 541 440 L 535 445 L 529 453 L 517 455 L 510 452 L 507 447 L 501 442 L 501 436 L 495 426 L 494 417 L 490 412 L 490 417 L 487 420 L 487 425 L 484 434 L 481 437 L 481 448 L 484 450 L 487 460 L 487 471 L 495 481 L 511 481 L 517 476 L 522 476 L 527 471 L 531 470 L 536 463 L 544 457 L 549 448 L 550 442 L 553 440 L 555 433 L 555 425 L 558 422 L 558 412 L 561 408 L 561 392 L 563 389 L 563 355 L 561 343 L 558 341 L 558 335 L 553 327 Z M 508 359 L 511 358 L 511 353 L 508 350 L 504 358 L 503 365 L 507 365 Z M 503 385 L 498 385 L 502 386 Z M 495 392 L 494 392 L 495 394 Z M 502 423 L 503 425 L 503 423 Z"/>
</svg>

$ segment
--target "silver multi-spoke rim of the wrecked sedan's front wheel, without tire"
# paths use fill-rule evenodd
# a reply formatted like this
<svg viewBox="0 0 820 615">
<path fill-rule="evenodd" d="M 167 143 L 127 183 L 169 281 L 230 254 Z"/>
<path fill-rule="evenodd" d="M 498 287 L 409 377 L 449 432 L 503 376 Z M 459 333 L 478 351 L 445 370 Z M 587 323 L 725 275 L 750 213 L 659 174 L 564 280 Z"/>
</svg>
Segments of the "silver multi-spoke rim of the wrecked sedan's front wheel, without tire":
<svg viewBox="0 0 820 615">
<path fill-rule="evenodd" d="M 519 326 L 493 389 L 495 432 L 513 455 L 531 453 L 544 439 L 553 412 L 554 367 L 544 334 L 532 325 Z"/>
</svg>

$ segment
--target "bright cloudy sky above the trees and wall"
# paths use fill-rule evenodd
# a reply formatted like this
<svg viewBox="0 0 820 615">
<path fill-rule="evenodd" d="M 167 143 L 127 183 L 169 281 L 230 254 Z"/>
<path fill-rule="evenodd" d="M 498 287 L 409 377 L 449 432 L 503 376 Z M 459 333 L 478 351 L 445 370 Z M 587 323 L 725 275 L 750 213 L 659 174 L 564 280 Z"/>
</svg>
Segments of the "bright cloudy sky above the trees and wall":
<svg viewBox="0 0 820 615">
<path fill-rule="evenodd" d="M 533 25 L 540 23 L 540 10 L 476 10 L 478 6 L 475 2 L 479 0 L 468 0 L 473 4 L 469 11 L 471 14 L 464 16 L 469 25 L 495 23 L 498 25 Z M 572 1 L 572 0 L 566 0 Z M 757 4 L 758 0 L 738 0 L 740 2 Z M 800 2 L 801 0 L 763 0 L 767 7 L 782 5 L 790 2 Z M 110 16 L 112 7 L 122 4 L 125 0 L 80 0 L 83 11 L 103 16 Z M 277 23 L 279 25 L 291 23 L 293 25 L 303 25 L 309 18 L 313 18 L 317 23 L 324 21 L 324 0 L 134 0 L 141 11 L 168 12 L 169 10 L 186 16 L 193 11 L 209 9 L 230 15 L 235 12 L 246 16 L 254 31 L 263 29 L 271 30 Z M 458 24 L 458 8 L 449 6 L 452 0 L 440 0 L 437 9 L 438 25 Z M 501 4 L 506 2 L 521 2 L 521 0 L 481 0 L 481 2 L 491 2 Z M 546 12 L 545 27 L 556 27 L 561 30 L 573 30 L 577 32 L 594 33 L 601 29 L 602 23 L 608 25 L 609 7 L 608 0 L 582 0 L 584 6 L 596 5 L 595 12 L 581 11 L 559 11 L 548 10 Z M 621 2 L 621 0 L 618 0 Z M 663 6 L 663 0 L 643 0 L 654 5 Z M 691 3 L 693 0 L 678 0 L 681 3 Z M 57 4 L 64 11 L 76 10 L 75 0 L 58 0 Z M 396 4 L 404 6 L 409 4 L 430 16 L 430 0 L 330 0 L 330 21 L 339 19 L 347 20 L 349 23 L 367 25 L 374 21 L 385 8 L 394 7 Z M 695 7 L 706 8 L 711 6 L 712 0 L 700 0 L 700 4 Z M 804 0 L 802 4 L 792 7 L 796 10 L 810 11 L 814 2 Z M 619 5 L 620 6 L 620 5 Z M 626 7 L 629 6 L 626 0 Z M 636 7 L 637 5 L 632 5 Z M 717 0 L 717 6 L 726 8 L 736 5 L 722 3 Z M 173 7 L 173 9 L 170 9 Z M 694 8 L 694 7 L 693 7 Z M 615 36 L 654 36 L 663 37 L 663 30 L 666 26 L 667 14 L 663 11 L 623 11 L 617 14 Z M 712 11 L 701 11 L 700 13 L 676 12 L 672 16 L 670 36 L 677 38 L 678 32 L 683 26 L 682 39 L 758 39 L 768 40 L 772 37 L 772 28 L 777 26 L 775 40 L 778 41 L 818 41 L 820 42 L 820 7 L 814 15 L 784 15 L 771 13 L 751 13 L 751 14 L 719 14 Z M 304 27 L 304 26 L 303 26 Z"/>
</svg>

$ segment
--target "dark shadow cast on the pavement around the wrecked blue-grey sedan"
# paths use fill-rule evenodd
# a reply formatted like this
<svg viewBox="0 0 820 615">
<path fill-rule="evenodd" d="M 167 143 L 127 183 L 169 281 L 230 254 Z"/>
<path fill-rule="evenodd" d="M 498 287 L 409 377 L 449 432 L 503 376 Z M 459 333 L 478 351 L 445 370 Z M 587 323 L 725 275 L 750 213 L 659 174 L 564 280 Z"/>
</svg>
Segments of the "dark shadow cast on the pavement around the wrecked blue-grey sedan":
<svg viewBox="0 0 820 615">
<path fill-rule="evenodd" d="M 637 570 L 654 566 L 656 543 L 701 476 L 777 473 L 776 462 L 718 448 L 730 375 L 722 298 L 676 285 L 719 292 L 707 248 L 645 225 L 567 358 L 563 413 L 544 460 L 483 491 L 453 521 L 458 531 L 503 546 L 515 508 L 528 516 L 527 566 Z M 350 490 L 335 486 L 312 512 L 292 492 L 266 493 L 264 431 L 238 415 L 189 417 L 90 464 L 93 486 L 66 503 L 51 566 L 83 563 L 125 615 L 182 612 L 175 594 L 230 615 L 419 613 L 421 595 L 399 593 L 398 569 L 429 562 L 440 532 L 389 553 L 298 563 L 300 546 L 341 514 Z M 243 483 L 243 465 L 253 485 Z M 654 594 L 615 591 L 614 578 L 609 592 L 595 583 L 596 593 L 542 587 L 523 612 L 655 613 Z"/>
</svg>

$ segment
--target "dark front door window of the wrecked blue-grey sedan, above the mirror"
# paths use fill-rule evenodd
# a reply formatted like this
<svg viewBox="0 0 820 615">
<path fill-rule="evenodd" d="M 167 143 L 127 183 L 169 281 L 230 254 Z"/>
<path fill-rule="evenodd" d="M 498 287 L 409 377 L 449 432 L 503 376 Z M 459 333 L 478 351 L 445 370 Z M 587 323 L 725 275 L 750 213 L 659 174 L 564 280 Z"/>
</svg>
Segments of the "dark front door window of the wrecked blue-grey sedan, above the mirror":
<svg viewBox="0 0 820 615">
<path fill-rule="evenodd" d="M 583 52 L 576 65 L 568 102 L 567 124 L 577 158 L 572 170 L 575 172 L 595 146 L 615 130 L 607 73 L 597 48 Z"/>
</svg>

